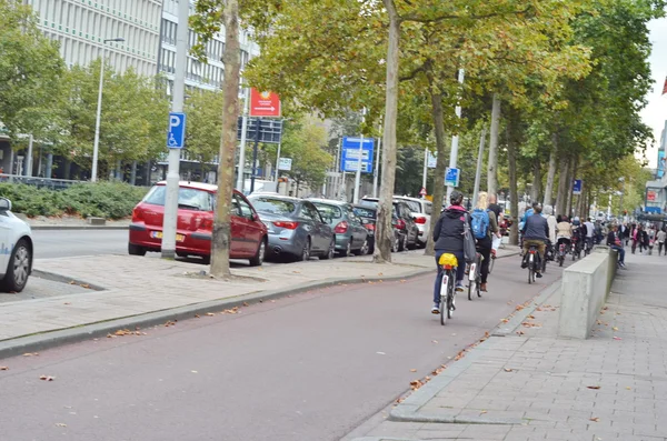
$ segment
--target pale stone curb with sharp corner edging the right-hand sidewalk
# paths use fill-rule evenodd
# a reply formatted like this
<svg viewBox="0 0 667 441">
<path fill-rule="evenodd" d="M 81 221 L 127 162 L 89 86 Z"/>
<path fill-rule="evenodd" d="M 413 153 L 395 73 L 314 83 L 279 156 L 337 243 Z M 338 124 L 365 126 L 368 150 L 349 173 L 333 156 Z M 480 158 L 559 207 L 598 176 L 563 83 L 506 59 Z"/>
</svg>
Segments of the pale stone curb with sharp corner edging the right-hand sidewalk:
<svg viewBox="0 0 667 441">
<path fill-rule="evenodd" d="M 490 344 L 490 339 L 507 337 L 515 332 L 515 330 L 521 325 L 528 315 L 535 312 L 540 304 L 542 304 L 547 299 L 558 291 L 560 283 L 561 280 L 557 280 L 556 282 L 546 287 L 530 301 L 530 307 L 526 307 L 522 310 L 517 311 L 517 313 L 507 323 L 502 323 L 494 328 L 494 330 L 489 332 L 489 338 L 470 349 L 464 359 L 448 364 L 445 371 L 432 378 L 428 383 L 412 392 L 401 403 L 394 408 L 391 412 L 389 412 L 388 420 L 398 422 L 438 422 L 450 424 L 526 424 L 528 420 L 518 418 L 458 418 L 456 414 L 448 415 L 419 413 L 419 409 L 426 405 L 426 403 L 432 400 L 440 391 L 447 388 L 449 383 L 451 383 L 469 367 L 471 367 L 477 359 L 481 358 L 486 352 L 487 347 Z M 379 440 L 382 440 L 382 438 Z"/>
</svg>

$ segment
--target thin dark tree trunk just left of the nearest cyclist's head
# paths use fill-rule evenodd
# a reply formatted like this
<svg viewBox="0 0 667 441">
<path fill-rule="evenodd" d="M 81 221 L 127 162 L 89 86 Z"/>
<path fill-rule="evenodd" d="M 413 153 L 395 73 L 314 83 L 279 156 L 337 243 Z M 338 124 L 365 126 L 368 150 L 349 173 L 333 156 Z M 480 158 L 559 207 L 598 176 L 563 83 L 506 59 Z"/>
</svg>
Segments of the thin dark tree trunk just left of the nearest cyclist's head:
<svg viewBox="0 0 667 441">
<path fill-rule="evenodd" d="M 431 222 L 428 231 L 428 242 L 425 254 L 435 255 L 434 250 L 434 229 L 436 222 L 442 211 L 442 198 L 445 197 L 444 177 L 447 170 L 447 159 L 445 158 L 445 119 L 442 112 L 442 94 L 432 83 L 432 76 L 429 76 L 430 96 L 431 96 L 431 114 L 434 117 L 434 127 L 436 132 L 436 150 L 438 157 L 436 159 L 435 183 L 434 183 L 434 204 L 431 209 Z"/>
</svg>

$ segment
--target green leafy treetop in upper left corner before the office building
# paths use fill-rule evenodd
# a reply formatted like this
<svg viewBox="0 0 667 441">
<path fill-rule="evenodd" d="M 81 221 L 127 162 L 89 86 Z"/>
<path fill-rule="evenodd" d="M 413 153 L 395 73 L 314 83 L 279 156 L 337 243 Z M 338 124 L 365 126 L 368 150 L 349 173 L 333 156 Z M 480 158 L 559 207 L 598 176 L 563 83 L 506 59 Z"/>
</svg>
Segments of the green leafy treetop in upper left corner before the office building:
<svg viewBox="0 0 667 441">
<path fill-rule="evenodd" d="M 10 134 L 39 134 L 64 62 L 22 1 L 0 0 L 0 121 Z"/>
</svg>

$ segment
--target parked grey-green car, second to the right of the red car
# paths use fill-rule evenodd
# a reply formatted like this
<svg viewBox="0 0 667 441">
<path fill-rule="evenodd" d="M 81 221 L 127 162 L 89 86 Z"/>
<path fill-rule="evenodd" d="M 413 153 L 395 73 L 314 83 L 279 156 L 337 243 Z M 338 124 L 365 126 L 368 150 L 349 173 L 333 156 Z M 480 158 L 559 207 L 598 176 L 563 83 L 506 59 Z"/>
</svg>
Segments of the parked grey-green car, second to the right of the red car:
<svg viewBox="0 0 667 441">
<path fill-rule="evenodd" d="M 322 220 L 334 229 L 336 252 L 340 255 L 368 254 L 368 230 L 364 228 L 352 206 L 330 199 L 308 199 L 317 208 Z"/>
</svg>

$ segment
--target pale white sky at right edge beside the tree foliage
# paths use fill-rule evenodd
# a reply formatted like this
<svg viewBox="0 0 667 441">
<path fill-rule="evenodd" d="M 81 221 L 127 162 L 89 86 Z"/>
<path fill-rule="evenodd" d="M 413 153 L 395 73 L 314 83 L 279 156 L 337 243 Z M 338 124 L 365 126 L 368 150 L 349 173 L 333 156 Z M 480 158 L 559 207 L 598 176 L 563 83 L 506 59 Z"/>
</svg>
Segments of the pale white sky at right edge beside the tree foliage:
<svg viewBox="0 0 667 441">
<path fill-rule="evenodd" d="M 653 20 L 648 24 L 653 43 L 649 58 L 654 88 L 646 97 L 648 106 L 641 111 L 641 120 L 654 130 L 656 144 L 646 152 L 649 167 L 656 168 L 658 161 L 658 143 L 667 120 L 667 94 L 661 96 L 665 78 L 667 78 L 667 18 Z"/>
</svg>

